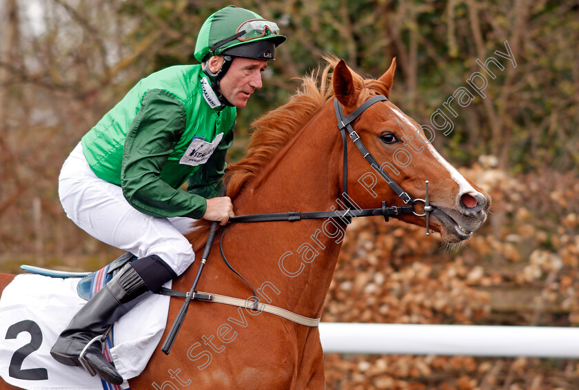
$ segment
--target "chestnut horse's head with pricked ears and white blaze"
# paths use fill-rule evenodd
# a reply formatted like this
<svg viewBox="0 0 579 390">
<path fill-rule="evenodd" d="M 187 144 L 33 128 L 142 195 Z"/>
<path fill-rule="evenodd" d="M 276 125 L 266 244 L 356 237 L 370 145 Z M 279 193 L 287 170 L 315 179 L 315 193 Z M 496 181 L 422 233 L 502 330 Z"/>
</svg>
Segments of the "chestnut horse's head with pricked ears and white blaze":
<svg viewBox="0 0 579 390">
<path fill-rule="evenodd" d="M 372 96 L 389 97 L 395 68 L 394 59 L 380 79 L 365 80 L 349 70 L 344 61 L 339 61 L 334 69 L 333 84 L 344 114 L 352 114 Z M 485 222 L 491 202 L 489 194 L 438 154 L 429 142 L 434 139 L 434 133 L 426 136 L 420 125 L 391 101 L 379 101 L 368 107 L 352 127 L 382 170 L 410 196 L 424 199 L 425 181 L 429 181 L 429 201 L 434 206 L 430 227 L 440 232 L 443 240 L 458 243 L 469 238 Z M 380 207 L 381 201 L 386 201 L 387 205 L 403 205 L 400 197 L 370 167 L 352 142 L 348 142 L 348 152 L 348 189 L 360 207 Z M 423 205 L 416 202 L 416 214 L 423 213 Z M 422 216 L 400 214 L 397 218 L 425 226 Z"/>
</svg>

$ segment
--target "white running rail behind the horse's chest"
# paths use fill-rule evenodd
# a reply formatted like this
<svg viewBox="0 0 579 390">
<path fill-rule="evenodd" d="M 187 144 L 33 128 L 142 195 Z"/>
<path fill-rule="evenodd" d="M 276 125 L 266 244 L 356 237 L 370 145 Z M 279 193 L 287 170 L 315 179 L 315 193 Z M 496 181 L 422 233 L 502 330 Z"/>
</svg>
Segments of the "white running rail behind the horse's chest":
<svg viewBox="0 0 579 390">
<path fill-rule="evenodd" d="M 322 322 L 325 353 L 579 358 L 579 328 Z"/>
</svg>

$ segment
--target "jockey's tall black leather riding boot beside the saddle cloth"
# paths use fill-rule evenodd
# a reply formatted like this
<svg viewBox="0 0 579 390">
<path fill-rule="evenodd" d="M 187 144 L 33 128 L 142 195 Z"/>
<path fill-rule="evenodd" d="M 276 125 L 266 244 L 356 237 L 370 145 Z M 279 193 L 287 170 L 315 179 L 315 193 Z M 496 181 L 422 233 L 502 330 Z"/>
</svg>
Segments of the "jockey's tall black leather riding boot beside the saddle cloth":
<svg viewBox="0 0 579 390">
<path fill-rule="evenodd" d="M 103 335 L 137 303 L 175 277 L 167 263 L 155 255 L 126 265 L 74 315 L 50 354 L 63 365 L 82 366 L 92 376 L 98 374 L 107 382 L 122 384 L 119 372 L 103 356 Z"/>
</svg>

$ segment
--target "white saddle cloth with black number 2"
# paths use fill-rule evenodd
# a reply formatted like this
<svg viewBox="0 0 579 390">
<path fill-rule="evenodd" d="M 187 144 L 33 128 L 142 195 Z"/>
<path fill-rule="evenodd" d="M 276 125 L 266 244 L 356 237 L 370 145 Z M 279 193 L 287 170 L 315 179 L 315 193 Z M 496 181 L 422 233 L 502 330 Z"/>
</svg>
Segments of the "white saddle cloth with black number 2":
<svg viewBox="0 0 579 390">
<path fill-rule="evenodd" d="M 79 278 L 59 279 L 23 274 L 14 278 L 0 298 L 0 376 L 34 390 L 121 390 L 138 376 L 159 344 L 169 300 L 153 294 L 114 324 L 110 358 L 125 382 L 114 386 L 81 367 L 61 365 L 50 348 L 85 304 L 77 294 Z M 165 283 L 170 287 L 171 282 Z M 107 356 L 109 351 L 105 351 Z"/>
</svg>

